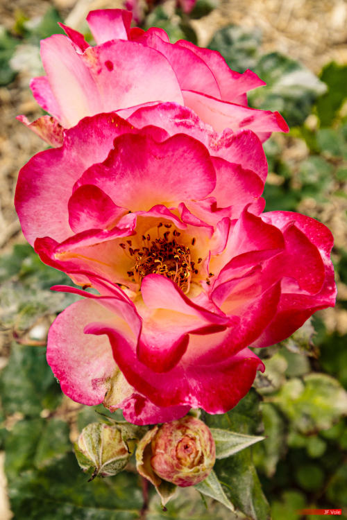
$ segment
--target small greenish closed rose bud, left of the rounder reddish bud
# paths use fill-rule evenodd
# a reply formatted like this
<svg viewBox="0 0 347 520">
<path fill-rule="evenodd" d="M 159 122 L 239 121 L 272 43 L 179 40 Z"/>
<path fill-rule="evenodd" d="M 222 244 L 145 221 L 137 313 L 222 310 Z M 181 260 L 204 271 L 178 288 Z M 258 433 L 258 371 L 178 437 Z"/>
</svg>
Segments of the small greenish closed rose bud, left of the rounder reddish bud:
<svg viewBox="0 0 347 520">
<path fill-rule="evenodd" d="M 98 422 L 83 428 L 75 444 L 75 453 L 83 471 L 94 468 L 90 480 L 96 476 L 116 475 L 124 469 L 130 458 L 120 429 Z"/>
</svg>

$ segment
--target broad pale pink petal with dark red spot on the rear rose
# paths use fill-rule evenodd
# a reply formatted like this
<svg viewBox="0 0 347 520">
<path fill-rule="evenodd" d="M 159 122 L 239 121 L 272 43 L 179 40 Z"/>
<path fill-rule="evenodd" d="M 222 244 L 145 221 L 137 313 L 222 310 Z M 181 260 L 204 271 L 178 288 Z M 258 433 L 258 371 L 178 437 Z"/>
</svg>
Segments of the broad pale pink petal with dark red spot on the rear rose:
<svg viewBox="0 0 347 520">
<path fill-rule="evenodd" d="M 154 49 L 137 42 L 112 40 L 89 47 L 83 61 L 96 83 L 96 96 L 103 104 L 101 110 L 92 112 L 94 114 L 151 101 L 183 104 L 174 70 Z"/>
</svg>

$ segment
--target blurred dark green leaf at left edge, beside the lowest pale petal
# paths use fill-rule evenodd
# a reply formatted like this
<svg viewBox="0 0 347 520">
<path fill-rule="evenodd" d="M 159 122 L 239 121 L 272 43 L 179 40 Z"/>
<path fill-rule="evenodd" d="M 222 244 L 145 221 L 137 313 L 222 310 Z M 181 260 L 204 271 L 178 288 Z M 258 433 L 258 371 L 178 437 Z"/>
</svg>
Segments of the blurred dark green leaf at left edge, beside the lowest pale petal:
<svg viewBox="0 0 347 520">
<path fill-rule="evenodd" d="M 39 415 L 43 408 L 56 408 L 61 399 L 45 349 L 15 343 L 8 365 L 1 372 L 0 390 L 6 415 Z"/>
</svg>

